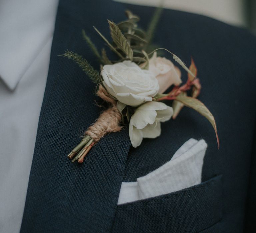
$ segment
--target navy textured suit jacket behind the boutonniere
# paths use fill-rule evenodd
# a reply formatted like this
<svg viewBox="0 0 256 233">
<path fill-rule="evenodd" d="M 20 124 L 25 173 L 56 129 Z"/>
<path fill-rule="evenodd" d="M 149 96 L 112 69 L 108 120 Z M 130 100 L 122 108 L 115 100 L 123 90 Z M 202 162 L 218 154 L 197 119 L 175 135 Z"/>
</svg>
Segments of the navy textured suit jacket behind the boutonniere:
<svg viewBox="0 0 256 233">
<path fill-rule="evenodd" d="M 78 52 L 98 69 L 81 29 L 101 48 L 93 26 L 109 38 L 106 20 L 123 20 L 125 9 L 138 14 L 144 28 L 154 10 L 110 0 L 60 0 L 21 232 L 249 231 L 255 227 L 256 40 L 246 30 L 164 10 L 154 37 L 185 63 L 194 58 L 199 99 L 216 118 L 219 150 L 210 123 L 184 108 L 162 124 L 160 137 L 136 149 L 125 128 L 104 137 L 83 164 L 68 160 L 102 108 L 95 104 L 95 85 L 58 55 Z M 186 77 L 182 71 L 184 82 Z M 208 143 L 201 184 L 117 206 L 122 181 L 135 181 L 169 161 L 189 138 Z"/>
</svg>

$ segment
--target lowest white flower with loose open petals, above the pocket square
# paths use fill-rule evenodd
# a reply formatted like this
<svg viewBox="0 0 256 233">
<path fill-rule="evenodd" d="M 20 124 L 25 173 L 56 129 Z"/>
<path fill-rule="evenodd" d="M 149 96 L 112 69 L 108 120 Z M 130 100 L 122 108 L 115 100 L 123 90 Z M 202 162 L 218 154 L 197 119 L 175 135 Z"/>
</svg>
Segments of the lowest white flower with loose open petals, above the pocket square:
<svg viewBox="0 0 256 233">
<path fill-rule="evenodd" d="M 129 137 L 133 147 L 141 144 L 143 138 L 156 138 L 161 134 L 160 122 L 173 114 L 172 107 L 162 102 L 147 102 L 135 110 L 129 124 Z"/>
</svg>

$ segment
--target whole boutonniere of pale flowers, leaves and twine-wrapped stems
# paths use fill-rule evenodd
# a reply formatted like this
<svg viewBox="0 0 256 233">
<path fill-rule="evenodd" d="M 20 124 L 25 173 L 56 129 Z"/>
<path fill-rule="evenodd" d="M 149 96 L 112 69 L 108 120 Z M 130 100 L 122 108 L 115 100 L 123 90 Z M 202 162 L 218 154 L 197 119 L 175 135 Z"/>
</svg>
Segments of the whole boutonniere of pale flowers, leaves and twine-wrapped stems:
<svg viewBox="0 0 256 233">
<path fill-rule="evenodd" d="M 96 95 L 109 104 L 85 131 L 82 141 L 70 152 L 68 158 L 72 159 L 72 162 L 82 163 L 90 149 L 103 136 L 118 132 L 126 125 L 129 126 L 131 144 L 137 147 L 143 138 L 160 136 L 161 122 L 175 119 L 184 106 L 196 110 L 210 121 L 219 147 L 214 117 L 197 99 L 201 85 L 193 59 L 188 68 L 177 55 L 165 48 L 150 51 L 150 42 L 161 8 L 156 9 L 147 32 L 138 27 L 137 15 L 128 10 L 125 13 L 125 21 L 116 24 L 108 20 L 113 40 L 111 42 L 94 27 L 107 46 L 117 55 L 117 60 L 110 60 L 104 48 L 100 53 L 84 30 L 83 38 L 98 58 L 100 70 L 92 67 L 77 53 L 67 50 L 63 54 L 83 69 L 95 83 Z M 169 59 L 158 56 L 157 53 L 161 50 L 167 51 L 174 62 L 186 70 L 188 78 L 185 84 L 181 85 L 180 69 Z M 171 86 L 172 90 L 165 93 Z M 191 90 L 191 96 L 188 96 L 188 90 Z"/>
</svg>

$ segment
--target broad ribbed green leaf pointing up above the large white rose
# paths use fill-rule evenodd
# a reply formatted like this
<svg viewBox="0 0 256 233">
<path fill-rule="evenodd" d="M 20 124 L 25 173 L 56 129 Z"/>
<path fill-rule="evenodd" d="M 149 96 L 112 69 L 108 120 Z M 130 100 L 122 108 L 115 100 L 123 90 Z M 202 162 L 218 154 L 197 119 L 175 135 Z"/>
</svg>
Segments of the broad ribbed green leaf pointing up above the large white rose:
<svg viewBox="0 0 256 233">
<path fill-rule="evenodd" d="M 127 57 L 132 61 L 133 51 L 128 41 L 124 37 L 123 33 L 121 32 L 120 28 L 113 21 L 108 20 L 108 23 L 113 41 L 115 42 L 117 47 L 121 49 L 123 53 L 126 54 Z"/>
</svg>

